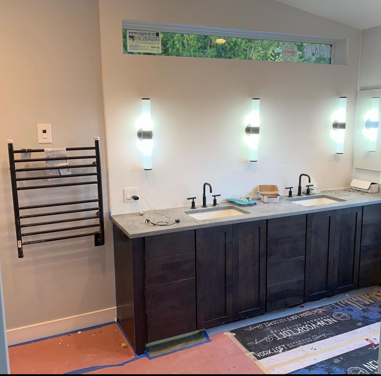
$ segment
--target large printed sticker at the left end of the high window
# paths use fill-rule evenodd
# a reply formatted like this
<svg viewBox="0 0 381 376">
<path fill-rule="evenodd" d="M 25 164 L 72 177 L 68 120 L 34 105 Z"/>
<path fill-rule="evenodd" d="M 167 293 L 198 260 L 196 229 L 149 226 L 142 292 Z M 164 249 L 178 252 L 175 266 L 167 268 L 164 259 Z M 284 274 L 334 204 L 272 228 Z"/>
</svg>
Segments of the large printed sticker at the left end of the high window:
<svg viewBox="0 0 381 376">
<path fill-rule="evenodd" d="M 160 31 L 127 30 L 127 52 L 162 52 Z"/>
</svg>

